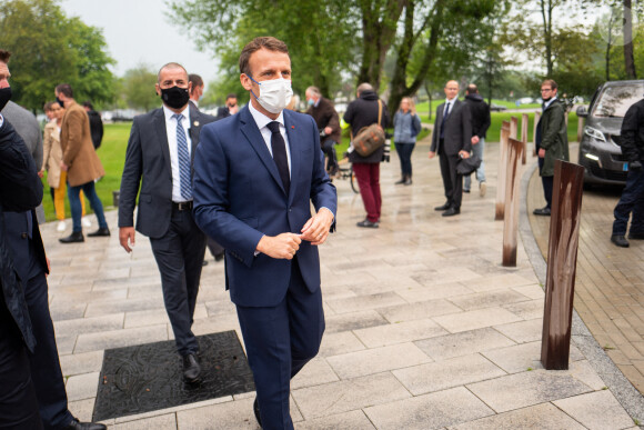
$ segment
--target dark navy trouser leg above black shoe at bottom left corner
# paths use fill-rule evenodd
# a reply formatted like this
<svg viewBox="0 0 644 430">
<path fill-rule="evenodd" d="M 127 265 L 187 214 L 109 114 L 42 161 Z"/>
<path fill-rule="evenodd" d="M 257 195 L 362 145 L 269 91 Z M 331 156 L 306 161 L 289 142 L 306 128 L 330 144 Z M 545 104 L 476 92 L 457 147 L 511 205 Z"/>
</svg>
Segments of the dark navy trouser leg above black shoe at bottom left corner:
<svg viewBox="0 0 644 430">
<path fill-rule="evenodd" d="M 29 354 L 29 364 L 40 417 L 44 429 L 61 429 L 69 426 L 73 416 L 68 410 L 64 379 L 49 313 L 44 272 L 38 273 L 26 283 L 24 298 L 37 342 L 33 353 Z"/>
</svg>

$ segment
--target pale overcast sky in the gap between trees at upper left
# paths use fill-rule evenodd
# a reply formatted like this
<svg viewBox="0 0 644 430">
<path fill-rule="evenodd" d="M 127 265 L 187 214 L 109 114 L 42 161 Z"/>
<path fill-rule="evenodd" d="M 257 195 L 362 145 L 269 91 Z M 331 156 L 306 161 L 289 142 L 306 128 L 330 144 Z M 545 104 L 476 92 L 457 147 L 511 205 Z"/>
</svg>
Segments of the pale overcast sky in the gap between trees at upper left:
<svg viewBox="0 0 644 430">
<path fill-rule="evenodd" d="M 162 0 L 62 0 L 61 6 L 68 17 L 102 29 L 118 76 L 141 63 L 157 71 L 175 61 L 205 82 L 217 77 L 215 61 L 170 23 Z"/>
</svg>

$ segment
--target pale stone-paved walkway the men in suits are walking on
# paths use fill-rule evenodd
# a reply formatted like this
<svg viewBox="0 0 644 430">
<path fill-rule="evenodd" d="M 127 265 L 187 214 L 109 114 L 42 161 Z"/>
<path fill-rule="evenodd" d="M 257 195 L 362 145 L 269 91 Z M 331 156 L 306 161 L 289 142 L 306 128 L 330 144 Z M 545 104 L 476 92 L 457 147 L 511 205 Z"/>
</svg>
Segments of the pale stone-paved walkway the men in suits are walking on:
<svg viewBox="0 0 644 430">
<path fill-rule="evenodd" d="M 631 396 L 635 390 L 613 388 L 612 380 L 623 378 L 583 326 L 575 326 L 570 370 L 542 368 L 543 259 L 522 223 L 526 247 L 520 239 L 517 268 L 500 266 L 503 226 L 493 221 L 497 146 L 486 147 L 487 196 L 474 189 L 461 216 L 449 219 L 433 210 L 444 198 L 437 160 L 426 159 L 427 149 L 414 152 L 411 187 L 393 184 L 400 171 L 395 153 L 382 166 L 378 230 L 355 227 L 364 218 L 362 202 L 346 181 L 338 182 L 338 232 L 321 248 L 326 332 L 319 357 L 292 381 L 295 427 L 632 429 L 644 421 Z M 84 420 L 91 418 L 105 349 L 172 338 L 149 242 L 138 236 L 127 254 L 118 244 L 115 212 L 108 221 L 114 236 L 71 246 L 58 243 L 54 223 L 42 226 L 70 409 Z M 223 264 L 211 260 L 194 331 L 231 329 L 239 333 Z M 256 429 L 253 398 L 245 393 L 107 423 Z"/>
</svg>

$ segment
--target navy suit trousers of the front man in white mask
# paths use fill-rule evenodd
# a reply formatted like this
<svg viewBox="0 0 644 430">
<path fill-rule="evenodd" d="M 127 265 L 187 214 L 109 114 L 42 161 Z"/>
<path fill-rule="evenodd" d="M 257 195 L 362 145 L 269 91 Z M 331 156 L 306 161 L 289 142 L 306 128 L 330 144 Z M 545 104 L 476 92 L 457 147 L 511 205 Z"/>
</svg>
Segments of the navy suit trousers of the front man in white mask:
<svg viewBox="0 0 644 430">
<path fill-rule="evenodd" d="M 289 290 L 278 306 L 238 306 L 237 312 L 255 381 L 262 428 L 293 429 L 290 381 L 320 350 L 324 332 L 322 291 L 306 289 L 295 257 Z"/>
</svg>

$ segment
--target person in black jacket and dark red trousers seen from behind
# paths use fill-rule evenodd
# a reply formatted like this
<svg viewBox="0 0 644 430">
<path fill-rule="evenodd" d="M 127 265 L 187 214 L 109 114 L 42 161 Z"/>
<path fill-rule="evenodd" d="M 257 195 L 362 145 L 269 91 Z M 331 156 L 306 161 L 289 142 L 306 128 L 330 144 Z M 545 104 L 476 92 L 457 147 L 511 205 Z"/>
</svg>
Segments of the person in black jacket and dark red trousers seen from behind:
<svg viewBox="0 0 644 430">
<path fill-rule="evenodd" d="M 358 136 L 360 130 L 373 123 L 379 123 L 385 128 L 389 123 L 386 104 L 379 99 L 370 83 L 361 83 L 356 89 L 358 99 L 346 107 L 346 112 L 342 117 L 351 124 L 352 138 Z M 379 106 L 380 104 L 380 106 Z M 381 114 L 379 121 L 379 112 Z M 383 159 L 384 146 L 373 151 L 368 157 L 362 157 L 350 148 L 349 161 L 353 163 L 353 172 L 360 186 L 360 196 L 364 203 L 366 218 L 356 223 L 358 227 L 378 228 L 382 198 L 380 193 L 380 162 Z"/>
</svg>

